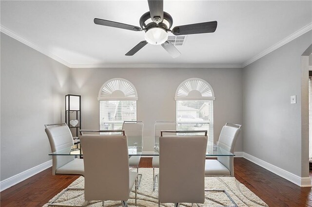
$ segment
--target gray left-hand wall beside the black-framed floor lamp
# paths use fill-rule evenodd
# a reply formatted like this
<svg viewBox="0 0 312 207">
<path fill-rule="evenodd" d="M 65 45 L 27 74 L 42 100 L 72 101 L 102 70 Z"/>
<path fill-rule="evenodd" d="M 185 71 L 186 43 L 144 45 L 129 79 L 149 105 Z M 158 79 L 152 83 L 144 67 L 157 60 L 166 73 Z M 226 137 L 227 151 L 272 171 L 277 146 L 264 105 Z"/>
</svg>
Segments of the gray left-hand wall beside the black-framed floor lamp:
<svg viewBox="0 0 312 207">
<path fill-rule="evenodd" d="M 1 33 L 0 180 L 51 159 L 44 124 L 61 120 L 69 69 Z"/>
</svg>

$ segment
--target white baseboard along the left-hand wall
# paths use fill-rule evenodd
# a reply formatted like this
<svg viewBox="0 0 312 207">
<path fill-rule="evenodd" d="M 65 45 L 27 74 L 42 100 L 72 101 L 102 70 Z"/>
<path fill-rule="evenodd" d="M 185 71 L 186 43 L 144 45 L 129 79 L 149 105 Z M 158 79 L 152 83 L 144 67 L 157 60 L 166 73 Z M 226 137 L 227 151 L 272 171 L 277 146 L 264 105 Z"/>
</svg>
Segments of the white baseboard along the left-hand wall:
<svg viewBox="0 0 312 207">
<path fill-rule="evenodd" d="M 10 188 L 27 178 L 40 173 L 41 171 L 52 166 L 52 159 L 19 174 L 13 175 L 5 180 L 0 181 L 0 191 Z M 51 172 L 52 173 L 52 172 Z"/>
</svg>

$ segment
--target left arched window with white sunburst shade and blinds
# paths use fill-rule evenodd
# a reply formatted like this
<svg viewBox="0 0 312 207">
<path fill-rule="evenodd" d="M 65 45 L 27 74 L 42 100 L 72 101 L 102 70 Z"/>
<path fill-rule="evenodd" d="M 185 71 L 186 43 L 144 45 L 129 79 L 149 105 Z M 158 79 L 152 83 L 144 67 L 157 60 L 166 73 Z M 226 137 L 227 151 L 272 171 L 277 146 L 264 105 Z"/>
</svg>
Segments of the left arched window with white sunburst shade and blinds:
<svg viewBox="0 0 312 207">
<path fill-rule="evenodd" d="M 123 121 L 137 121 L 137 90 L 129 81 L 107 81 L 98 92 L 98 101 L 100 130 L 117 130 Z"/>
</svg>

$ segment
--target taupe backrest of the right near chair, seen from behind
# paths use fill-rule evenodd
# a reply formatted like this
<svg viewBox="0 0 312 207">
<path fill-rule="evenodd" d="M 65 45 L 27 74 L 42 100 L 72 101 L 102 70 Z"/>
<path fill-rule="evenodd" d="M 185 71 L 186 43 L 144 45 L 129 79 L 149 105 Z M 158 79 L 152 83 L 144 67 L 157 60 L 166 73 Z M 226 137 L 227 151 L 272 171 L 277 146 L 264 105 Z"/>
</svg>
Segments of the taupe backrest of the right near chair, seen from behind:
<svg viewBox="0 0 312 207">
<path fill-rule="evenodd" d="M 204 203 L 207 136 L 159 137 L 160 203 Z"/>
</svg>

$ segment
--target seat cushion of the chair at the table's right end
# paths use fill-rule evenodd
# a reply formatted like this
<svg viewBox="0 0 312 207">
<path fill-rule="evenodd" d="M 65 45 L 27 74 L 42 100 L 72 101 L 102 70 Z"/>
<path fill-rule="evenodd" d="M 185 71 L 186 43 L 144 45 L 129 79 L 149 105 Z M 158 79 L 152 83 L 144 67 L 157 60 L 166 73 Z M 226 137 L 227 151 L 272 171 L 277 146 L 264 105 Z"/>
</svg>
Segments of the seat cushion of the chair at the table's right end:
<svg viewBox="0 0 312 207">
<path fill-rule="evenodd" d="M 216 159 L 206 159 L 205 176 L 231 176 L 229 169 Z"/>
</svg>

